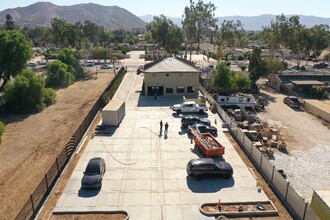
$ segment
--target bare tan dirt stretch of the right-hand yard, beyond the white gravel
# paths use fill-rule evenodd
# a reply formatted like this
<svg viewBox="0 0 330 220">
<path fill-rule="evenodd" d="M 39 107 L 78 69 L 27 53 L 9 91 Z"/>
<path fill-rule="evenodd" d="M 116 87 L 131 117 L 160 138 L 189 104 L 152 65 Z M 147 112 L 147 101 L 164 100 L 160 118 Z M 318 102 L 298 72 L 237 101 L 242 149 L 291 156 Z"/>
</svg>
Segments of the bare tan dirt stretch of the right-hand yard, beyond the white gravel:
<svg viewBox="0 0 330 220">
<path fill-rule="evenodd" d="M 267 102 L 266 112 L 262 112 L 258 116 L 268 124 L 279 128 L 289 152 L 329 145 L 329 128 L 324 125 L 322 120 L 301 109 L 289 108 L 283 103 L 285 96 L 282 94 L 272 90 L 262 90 L 262 94 Z M 329 102 L 320 103 L 324 110 L 330 111 Z"/>
</svg>

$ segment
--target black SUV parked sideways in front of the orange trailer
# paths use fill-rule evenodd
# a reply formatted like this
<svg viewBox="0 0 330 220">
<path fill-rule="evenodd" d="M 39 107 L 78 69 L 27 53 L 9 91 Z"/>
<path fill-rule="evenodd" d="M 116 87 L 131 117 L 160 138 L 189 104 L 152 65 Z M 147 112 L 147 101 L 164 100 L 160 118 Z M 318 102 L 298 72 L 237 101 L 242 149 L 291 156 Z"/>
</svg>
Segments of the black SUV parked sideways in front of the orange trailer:
<svg viewBox="0 0 330 220">
<path fill-rule="evenodd" d="M 229 179 L 233 176 L 232 166 L 225 161 L 215 161 L 213 158 L 192 159 L 187 164 L 187 174 L 201 179 L 204 176 L 220 176 Z"/>
</svg>

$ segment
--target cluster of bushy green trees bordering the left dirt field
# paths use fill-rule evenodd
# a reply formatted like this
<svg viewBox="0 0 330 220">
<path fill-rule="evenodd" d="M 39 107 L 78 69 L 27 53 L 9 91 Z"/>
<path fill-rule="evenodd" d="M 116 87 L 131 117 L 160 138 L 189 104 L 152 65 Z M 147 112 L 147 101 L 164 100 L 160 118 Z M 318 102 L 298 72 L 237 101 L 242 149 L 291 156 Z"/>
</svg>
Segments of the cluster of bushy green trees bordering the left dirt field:
<svg viewBox="0 0 330 220">
<path fill-rule="evenodd" d="M 56 101 L 52 88 L 67 87 L 84 77 L 78 53 L 68 48 L 59 53 L 58 60 L 47 64 L 46 78 L 26 69 L 27 60 L 32 55 L 31 45 L 19 31 L 0 31 L 1 88 L 7 112 L 41 111 Z"/>
</svg>

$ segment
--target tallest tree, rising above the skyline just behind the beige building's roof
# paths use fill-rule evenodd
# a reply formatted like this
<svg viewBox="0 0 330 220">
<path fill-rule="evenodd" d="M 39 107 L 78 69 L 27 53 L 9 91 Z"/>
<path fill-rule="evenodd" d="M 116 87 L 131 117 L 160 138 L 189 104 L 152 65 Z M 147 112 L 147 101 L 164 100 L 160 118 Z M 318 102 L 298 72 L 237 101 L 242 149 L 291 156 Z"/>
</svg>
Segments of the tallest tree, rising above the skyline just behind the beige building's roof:
<svg viewBox="0 0 330 220">
<path fill-rule="evenodd" d="M 186 42 L 189 45 L 190 60 L 193 44 L 197 43 L 197 48 L 199 48 L 203 36 L 208 33 L 211 27 L 215 28 L 217 21 L 214 14 L 215 10 L 216 7 L 213 3 L 205 4 L 202 0 L 198 0 L 197 3 L 190 0 L 190 6 L 185 7 L 182 26 Z"/>
</svg>

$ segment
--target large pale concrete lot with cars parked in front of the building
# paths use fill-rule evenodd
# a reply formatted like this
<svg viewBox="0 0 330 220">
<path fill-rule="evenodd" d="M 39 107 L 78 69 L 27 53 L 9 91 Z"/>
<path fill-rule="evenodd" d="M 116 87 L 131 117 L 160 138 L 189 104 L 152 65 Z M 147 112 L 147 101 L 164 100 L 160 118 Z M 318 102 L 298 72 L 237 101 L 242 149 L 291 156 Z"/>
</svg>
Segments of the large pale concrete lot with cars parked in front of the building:
<svg viewBox="0 0 330 220">
<path fill-rule="evenodd" d="M 192 220 L 210 219 L 199 212 L 199 207 L 218 199 L 268 201 L 222 132 L 220 118 L 211 112 L 204 117 L 212 123 L 217 118 L 217 139 L 226 147 L 223 159 L 233 166 L 234 176 L 229 180 L 200 181 L 187 177 L 187 162 L 201 155 L 181 130 L 180 118 L 169 109 L 181 99 L 140 96 L 143 75 L 136 75 L 137 66 L 127 64 L 128 73 L 115 95 L 125 100 L 126 116 L 111 136 L 95 136 L 90 140 L 54 211 L 125 210 L 134 220 Z M 169 123 L 167 139 L 160 136 L 160 120 Z M 102 189 L 82 190 L 83 171 L 95 156 L 106 159 Z"/>
</svg>

